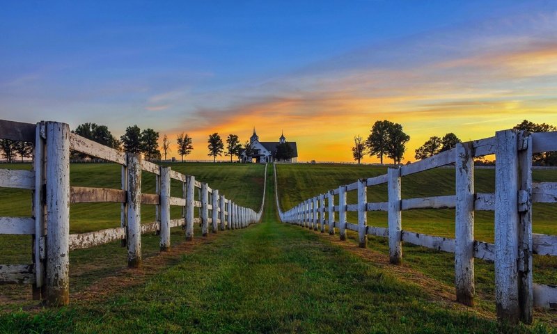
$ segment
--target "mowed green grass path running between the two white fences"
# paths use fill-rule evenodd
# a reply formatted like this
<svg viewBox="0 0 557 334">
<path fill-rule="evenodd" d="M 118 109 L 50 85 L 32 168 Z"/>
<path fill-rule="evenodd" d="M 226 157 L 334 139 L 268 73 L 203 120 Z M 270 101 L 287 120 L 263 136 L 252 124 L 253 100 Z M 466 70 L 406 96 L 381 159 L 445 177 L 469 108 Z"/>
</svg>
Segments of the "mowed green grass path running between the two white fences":
<svg viewBox="0 0 557 334">
<path fill-rule="evenodd" d="M 221 232 L 104 301 L 0 315 L 4 333 L 510 333 L 431 301 L 319 234 L 276 221 L 269 168 L 262 223 Z M 453 305 L 454 306 L 454 305 Z M 516 333 L 546 333 L 538 324 Z"/>
</svg>

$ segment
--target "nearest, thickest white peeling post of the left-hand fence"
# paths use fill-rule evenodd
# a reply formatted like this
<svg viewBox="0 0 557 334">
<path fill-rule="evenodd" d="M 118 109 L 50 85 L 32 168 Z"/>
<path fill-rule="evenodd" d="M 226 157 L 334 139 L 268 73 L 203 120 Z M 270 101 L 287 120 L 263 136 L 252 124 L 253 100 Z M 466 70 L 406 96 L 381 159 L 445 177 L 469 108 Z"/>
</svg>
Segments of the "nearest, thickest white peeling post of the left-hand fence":
<svg viewBox="0 0 557 334">
<path fill-rule="evenodd" d="M 70 127 L 47 122 L 47 304 L 70 302 Z"/>
</svg>

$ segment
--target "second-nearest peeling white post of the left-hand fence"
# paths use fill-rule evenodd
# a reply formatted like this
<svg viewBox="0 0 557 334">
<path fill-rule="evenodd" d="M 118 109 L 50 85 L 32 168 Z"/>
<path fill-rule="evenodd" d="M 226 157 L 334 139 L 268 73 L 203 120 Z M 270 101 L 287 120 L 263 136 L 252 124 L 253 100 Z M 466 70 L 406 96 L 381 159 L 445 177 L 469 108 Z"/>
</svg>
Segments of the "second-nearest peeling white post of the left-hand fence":
<svg viewBox="0 0 557 334">
<path fill-rule="evenodd" d="M 141 267 L 141 154 L 127 153 L 127 267 Z"/>
</svg>

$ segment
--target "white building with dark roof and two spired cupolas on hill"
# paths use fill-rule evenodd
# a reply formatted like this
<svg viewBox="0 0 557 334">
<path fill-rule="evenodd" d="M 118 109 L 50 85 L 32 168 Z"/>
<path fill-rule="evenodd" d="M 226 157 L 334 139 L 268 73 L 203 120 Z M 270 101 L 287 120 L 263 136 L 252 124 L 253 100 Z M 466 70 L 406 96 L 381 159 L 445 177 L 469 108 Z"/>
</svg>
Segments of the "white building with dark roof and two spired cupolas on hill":
<svg viewBox="0 0 557 334">
<path fill-rule="evenodd" d="M 281 144 L 290 146 L 290 152 L 292 152 L 290 159 L 276 159 L 276 149 Z M 260 163 L 273 161 L 296 162 L 298 159 L 296 142 L 286 141 L 284 134 L 281 134 L 281 138 L 278 138 L 278 141 L 259 141 L 259 136 L 256 134 L 256 128 L 254 127 L 253 134 L 249 138 L 249 147 L 251 148 L 251 154 L 248 156 L 244 150 L 241 157 L 242 162 L 252 162 L 253 159 Z"/>
</svg>

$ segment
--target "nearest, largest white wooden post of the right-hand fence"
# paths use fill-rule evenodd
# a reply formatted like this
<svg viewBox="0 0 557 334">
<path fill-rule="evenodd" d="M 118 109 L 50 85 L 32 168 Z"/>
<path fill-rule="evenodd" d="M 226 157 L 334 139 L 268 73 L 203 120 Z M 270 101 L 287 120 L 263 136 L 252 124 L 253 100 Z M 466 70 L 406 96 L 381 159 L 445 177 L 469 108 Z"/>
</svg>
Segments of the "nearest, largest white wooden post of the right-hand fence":
<svg viewBox="0 0 557 334">
<path fill-rule="evenodd" d="M 497 317 L 515 324 L 520 318 L 517 132 L 496 132 L 495 141 L 495 301 Z"/>
</svg>

